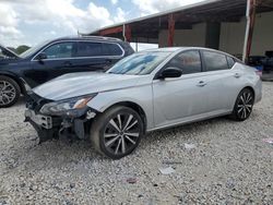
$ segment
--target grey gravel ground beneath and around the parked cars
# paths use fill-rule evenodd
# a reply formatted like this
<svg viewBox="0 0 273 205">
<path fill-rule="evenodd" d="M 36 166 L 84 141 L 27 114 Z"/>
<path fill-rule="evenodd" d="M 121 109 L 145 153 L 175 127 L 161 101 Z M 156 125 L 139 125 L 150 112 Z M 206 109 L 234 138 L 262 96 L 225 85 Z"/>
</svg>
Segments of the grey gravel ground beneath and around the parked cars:
<svg viewBox="0 0 273 205">
<path fill-rule="evenodd" d="M 262 142 L 273 137 L 273 83 L 248 121 L 154 132 L 117 161 L 85 142 L 38 145 L 23 112 L 23 100 L 0 110 L 0 204 L 273 204 L 273 145 Z"/>
</svg>

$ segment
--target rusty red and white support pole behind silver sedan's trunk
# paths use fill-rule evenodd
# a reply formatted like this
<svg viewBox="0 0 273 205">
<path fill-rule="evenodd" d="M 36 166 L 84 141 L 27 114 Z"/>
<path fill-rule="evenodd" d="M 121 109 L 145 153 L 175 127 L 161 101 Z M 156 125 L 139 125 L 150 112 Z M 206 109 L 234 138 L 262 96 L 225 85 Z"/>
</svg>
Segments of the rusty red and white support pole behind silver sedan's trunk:
<svg viewBox="0 0 273 205">
<path fill-rule="evenodd" d="M 247 26 L 246 26 L 242 61 L 247 63 L 248 58 L 251 52 L 252 36 L 253 36 L 253 29 L 254 29 L 256 0 L 248 0 L 246 17 L 247 17 Z"/>
</svg>

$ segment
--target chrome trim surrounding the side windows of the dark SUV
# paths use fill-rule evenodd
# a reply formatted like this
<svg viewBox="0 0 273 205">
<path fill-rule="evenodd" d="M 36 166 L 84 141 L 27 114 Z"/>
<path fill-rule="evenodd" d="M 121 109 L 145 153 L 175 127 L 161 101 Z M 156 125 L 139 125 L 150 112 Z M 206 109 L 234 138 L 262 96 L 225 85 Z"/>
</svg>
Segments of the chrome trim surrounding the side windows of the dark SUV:
<svg viewBox="0 0 273 205">
<path fill-rule="evenodd" d="M 41 53 L 43 51 L 45 51 L 47 48 L 49 48 L 50 46 L 54 46 L 56 44 L 60 44 L 60 43 L 80 43 L 80 41 L 84 41 L 84 43 L 100 43 L 100 44 L 114 44 L 117 45 L 121 51 L 122 55 L 120 56 L 97 56 L 97 57 L 72 57 L 72 58 L 56 58 L 56 59 L 43 59 L 43 61 L 56 61 L 56 60 L 74 60 L 74 59 L 98 59 L 98 58 L 115 58 L 115 59 L 119 59 L 124 57 L 124 49 L 117 43 L 108 43 L 108 41 L 103 41 L 103 40 L 58 40 L 58 41 L 54 41 L 48 44 L 46 47 L 44 47 L 43 49 L 40 49 L 33 58 L 31 61 L 37 62 L 39 60 L 36 59 L 36 57 Z"/>
</svg>

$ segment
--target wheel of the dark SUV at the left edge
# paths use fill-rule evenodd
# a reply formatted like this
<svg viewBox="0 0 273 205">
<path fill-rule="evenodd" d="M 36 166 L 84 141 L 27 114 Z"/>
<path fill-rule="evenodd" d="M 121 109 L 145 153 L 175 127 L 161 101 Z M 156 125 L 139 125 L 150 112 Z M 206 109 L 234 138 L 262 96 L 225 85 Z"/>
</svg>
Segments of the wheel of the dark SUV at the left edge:
<svg viewBox="0 0 273 205">
<path fill-rule="evenodd" d="M 14 80 L 0 75 L 0 108 L 13 106 L 20 94 L 20 86 Z"/>
</svg>

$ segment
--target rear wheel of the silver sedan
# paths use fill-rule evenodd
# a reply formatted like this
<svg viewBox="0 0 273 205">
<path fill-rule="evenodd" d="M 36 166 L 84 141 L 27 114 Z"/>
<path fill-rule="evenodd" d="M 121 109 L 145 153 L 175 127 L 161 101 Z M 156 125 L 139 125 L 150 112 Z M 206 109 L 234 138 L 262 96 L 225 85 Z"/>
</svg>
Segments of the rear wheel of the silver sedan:
<svg viewBox="0 0 273 205">
<path fill-rule="evenodd" d="M 240 119 L 247 119 L 250 116 L 253 107 L 253 101 L 254 97 L 250 91 L 246 89 L 241 93 L 237 104 L 237 114 Z"/>
</svg>

